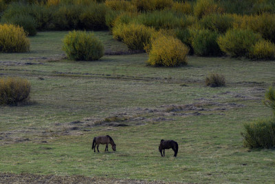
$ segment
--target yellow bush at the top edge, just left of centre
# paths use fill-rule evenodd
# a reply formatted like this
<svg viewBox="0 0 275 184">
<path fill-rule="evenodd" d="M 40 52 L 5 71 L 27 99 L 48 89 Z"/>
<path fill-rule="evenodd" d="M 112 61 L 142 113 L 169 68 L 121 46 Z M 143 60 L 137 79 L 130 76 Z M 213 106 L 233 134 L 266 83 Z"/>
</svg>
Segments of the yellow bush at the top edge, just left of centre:
<svg viewBox="0 0 275 184">
<path fill-rule="evenodd" d="M 105 5 L 111 10 L 126 11 L 126 12 L 137 12 L 137 8 L 130 1 L 125 0 L 107 0 Z"/>
</svg>

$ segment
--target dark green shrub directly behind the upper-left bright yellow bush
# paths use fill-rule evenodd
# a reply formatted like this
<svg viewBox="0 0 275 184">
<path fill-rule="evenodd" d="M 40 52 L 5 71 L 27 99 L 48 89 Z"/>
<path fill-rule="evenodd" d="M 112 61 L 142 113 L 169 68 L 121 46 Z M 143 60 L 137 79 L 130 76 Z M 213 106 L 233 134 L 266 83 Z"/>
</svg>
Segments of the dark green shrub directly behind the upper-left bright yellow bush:
<svg viewBox="0 0 275 184">
<path fill-rule="evenodd" d="M 30 15 L 16 15 L 9 20 L 3 20 L 4 23 L 10 23 L 14 25 L 19 25 L 25 31 L 25 33 L 29 36 L 34 36 L 36 31 L 36 21 Z"/>
</svg>

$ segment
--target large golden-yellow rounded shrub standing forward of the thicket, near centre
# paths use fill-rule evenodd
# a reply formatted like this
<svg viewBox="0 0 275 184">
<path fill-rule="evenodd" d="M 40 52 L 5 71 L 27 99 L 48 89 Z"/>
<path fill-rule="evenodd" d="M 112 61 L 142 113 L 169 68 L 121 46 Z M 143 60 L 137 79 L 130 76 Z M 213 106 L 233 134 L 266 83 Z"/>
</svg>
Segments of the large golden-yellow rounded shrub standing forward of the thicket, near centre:
<svg viewBox="0 0 275 184">
<path fill-rule="evenodd" d="M 187 64 L 188 47 L 179 39 L 161 36 L 152 42 L 151 50 L 148 52 L 148 65 L 153 66 L 179 66 Z"/>
</svg>

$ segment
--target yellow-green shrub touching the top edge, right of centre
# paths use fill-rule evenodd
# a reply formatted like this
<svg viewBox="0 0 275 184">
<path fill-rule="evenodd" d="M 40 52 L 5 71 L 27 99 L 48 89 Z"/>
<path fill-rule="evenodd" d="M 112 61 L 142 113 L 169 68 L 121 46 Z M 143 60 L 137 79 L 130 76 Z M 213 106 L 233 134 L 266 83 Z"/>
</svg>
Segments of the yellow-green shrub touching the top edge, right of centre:
<svg viewBox="0 0 275 184">
<path fill-rule="evenodd" d="M 194 14 L 199 19 L 203 16 L 214 13 L 223 13 L 223 9 L 214 3 L 214 0 L 198 0 L 195 4 Z"/>
</svg>

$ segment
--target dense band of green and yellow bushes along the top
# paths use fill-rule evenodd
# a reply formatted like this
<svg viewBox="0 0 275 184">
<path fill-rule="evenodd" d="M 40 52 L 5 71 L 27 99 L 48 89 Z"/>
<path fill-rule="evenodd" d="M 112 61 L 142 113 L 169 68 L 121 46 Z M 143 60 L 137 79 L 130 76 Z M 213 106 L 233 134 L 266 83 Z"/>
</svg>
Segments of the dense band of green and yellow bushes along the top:
<svg viewBox="0 0 275 184">
<path fill-rule="evenodd" d="M 177 37 L 189 54 L 265 60 L 274 59 L 274 13 L 272 0 L 0 1 L 1 23 L 19 25 L 29 36 L 37 30 L 110 30 L 129 49 L 144 50 L 151 30 Z"/>
</svg>

